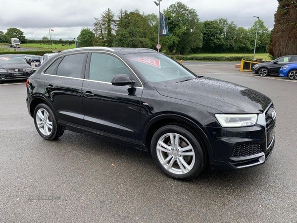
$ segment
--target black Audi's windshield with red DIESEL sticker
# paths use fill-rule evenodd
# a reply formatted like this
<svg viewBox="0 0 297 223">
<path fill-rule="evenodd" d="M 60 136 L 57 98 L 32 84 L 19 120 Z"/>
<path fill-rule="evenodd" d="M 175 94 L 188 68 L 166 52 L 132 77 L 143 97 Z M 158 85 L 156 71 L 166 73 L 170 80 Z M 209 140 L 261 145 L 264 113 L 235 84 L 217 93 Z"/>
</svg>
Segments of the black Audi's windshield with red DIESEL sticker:
<svg viewBox="0 0 297 223">
<path fill-rule="evenodd" d="M 173 59 L 158 53 L 125 55 L 150 82 L 179 82 L 196 76 Z"/>
</svg>

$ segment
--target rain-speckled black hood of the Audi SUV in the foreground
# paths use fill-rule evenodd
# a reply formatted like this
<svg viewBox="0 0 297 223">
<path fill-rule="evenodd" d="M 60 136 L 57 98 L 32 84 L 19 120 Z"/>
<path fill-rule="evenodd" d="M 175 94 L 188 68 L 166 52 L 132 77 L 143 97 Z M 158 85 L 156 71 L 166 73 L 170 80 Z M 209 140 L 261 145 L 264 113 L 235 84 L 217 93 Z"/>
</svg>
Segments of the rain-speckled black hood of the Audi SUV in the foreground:
<svg viewBox="0 0 297 223">
<path fill-rule="evenodd" d="M 154 87 L 163 96 L 193 102 L 224 113 L 262 113 L 271 103 L 260 92 L 208 77 Z"/>
</svg>

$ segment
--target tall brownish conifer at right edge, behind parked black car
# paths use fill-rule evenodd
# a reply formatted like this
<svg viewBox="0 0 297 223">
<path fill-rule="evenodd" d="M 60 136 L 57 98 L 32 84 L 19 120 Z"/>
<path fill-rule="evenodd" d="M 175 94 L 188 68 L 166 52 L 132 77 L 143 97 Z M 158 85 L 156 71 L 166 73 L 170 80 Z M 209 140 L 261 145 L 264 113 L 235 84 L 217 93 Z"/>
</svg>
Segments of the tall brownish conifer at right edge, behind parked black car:
<svg viewBox="0 0 297 223">
<path fill-rule="evenodd" d="M 297 0 L 278 0 L 268 52 L 274 57 L 297 54 Z"/>
</svg>

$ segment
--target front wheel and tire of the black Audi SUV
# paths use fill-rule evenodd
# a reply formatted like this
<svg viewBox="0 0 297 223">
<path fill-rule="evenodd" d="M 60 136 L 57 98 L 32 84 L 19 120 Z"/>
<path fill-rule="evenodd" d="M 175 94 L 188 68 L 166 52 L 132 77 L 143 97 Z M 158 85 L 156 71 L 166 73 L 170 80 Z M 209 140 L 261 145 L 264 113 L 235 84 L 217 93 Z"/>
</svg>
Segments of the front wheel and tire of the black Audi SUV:
<svg viewBox="0 0 297 223">
<path fill-rule="evenodd" d="M 177 137 L 178 146 L 172 147 Z M 205 167 L 206 155 L 203 147 L 190 131 L 181 126 L 165 125 L 159 128 L 150 145 L 153 160 L 172 178 L 189 180 L 198 176 Z"/>
</svg>

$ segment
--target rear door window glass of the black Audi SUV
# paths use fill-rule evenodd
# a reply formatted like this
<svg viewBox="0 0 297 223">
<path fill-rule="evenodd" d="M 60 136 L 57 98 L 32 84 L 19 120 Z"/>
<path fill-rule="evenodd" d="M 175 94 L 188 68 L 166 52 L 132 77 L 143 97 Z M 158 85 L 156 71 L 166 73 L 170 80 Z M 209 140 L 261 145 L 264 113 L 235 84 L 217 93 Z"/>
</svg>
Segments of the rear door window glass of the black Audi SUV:
<svg viewBox="0 0 297 223">
<path fill-rule="evenodd" d="M 57 75 L 81 78 L 85 55 L 86 54 L 74 54 L 64 56 L 61 63 L 58 65 Z"/>
</svg>

